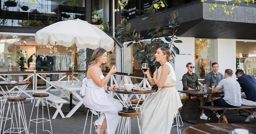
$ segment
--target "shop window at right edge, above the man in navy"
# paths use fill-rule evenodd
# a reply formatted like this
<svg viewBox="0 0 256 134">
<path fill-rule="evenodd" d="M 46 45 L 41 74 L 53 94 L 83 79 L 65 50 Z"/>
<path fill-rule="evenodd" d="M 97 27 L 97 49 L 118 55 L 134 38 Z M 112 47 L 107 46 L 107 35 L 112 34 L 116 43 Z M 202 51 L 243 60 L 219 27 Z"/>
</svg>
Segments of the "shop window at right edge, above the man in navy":
<svg viewBox="0 0 256 134">
<path fill-rule="evenodd" d="M 256 42 L 236 41 L 236 69 L 256 77 Z"/>
</svg>

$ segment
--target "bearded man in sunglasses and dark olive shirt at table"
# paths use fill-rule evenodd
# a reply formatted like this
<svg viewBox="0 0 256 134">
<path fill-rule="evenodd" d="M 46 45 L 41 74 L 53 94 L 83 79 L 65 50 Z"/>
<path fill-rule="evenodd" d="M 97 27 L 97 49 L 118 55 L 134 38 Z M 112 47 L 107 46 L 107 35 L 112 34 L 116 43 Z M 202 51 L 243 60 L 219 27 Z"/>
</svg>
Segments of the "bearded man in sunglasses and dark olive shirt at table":
<svg viewBox="0 0 256 134">
<path fill-rule="evenodd" d="M 188 69 L 188 72 L 182 76 L 183 90 L 199 90 L 200 85 L 198 82 L 198 77 L 195 73 L 193 73 L 195 67 L 193 66 L 192 63 L 186 64 L 186 67 Z M 183 96 L 188 97 L 188 94 L 183 93 Z M 200 100 L 200 106 L 202 106 L 204 97 L 196 96 L 196 98 Z M 204 111 L 202 111 L 200 119 L 207 119 L 207 116 L 204 114 Z"/>
</svg>

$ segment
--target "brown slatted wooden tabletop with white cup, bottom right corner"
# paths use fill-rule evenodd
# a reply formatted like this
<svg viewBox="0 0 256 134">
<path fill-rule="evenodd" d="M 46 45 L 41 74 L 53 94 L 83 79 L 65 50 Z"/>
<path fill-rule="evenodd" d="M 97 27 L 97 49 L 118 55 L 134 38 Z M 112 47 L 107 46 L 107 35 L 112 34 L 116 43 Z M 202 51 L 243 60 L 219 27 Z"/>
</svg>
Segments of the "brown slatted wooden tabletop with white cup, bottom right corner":
<svg viewBox="0 0 256 134">
<path fill-rule="evenodd" d="M 250 133 L 256 133 L 256 126 L 244 124 L 229 124 L 229 123 L 207 123 L 198 124 L 187 127 L 184 134 L 229 134 L 229 131 L 235 128 L 244 128 Z"/>
</svg>

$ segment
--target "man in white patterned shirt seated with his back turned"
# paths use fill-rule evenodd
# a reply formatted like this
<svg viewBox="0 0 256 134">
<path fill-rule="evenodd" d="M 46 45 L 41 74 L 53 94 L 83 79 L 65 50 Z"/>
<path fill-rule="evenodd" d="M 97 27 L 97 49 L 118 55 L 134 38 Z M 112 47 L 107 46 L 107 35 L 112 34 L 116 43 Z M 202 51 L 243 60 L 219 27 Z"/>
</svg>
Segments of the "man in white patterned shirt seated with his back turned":
<svg viewBox="0 0 256 134">
<path fill-rule="evenodd" d="M 214 106 L 226 106 L 226 107 L 239 107 L 242 104 L 240 85 L 236 79 L 232 79 L 233 71 L 226 69 L 224 78 L 220 80 L 220 83 L 215 87 L 215 92 L 224 92 L 225 96 L 209 98 L 207 102 L 213 101 Z M 220 115 L 222 110 L 217 111 Z M 228 123 L 226 116 L 222 117 L 220 123 Z"/>
</svg>

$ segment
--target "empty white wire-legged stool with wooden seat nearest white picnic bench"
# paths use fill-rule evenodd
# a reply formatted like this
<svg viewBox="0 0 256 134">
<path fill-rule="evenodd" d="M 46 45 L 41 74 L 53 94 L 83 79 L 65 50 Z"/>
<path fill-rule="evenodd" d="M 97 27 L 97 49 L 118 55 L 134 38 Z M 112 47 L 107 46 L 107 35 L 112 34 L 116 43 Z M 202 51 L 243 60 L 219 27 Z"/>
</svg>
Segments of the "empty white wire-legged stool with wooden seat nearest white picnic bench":
<svg viewBox="0 0 256 134">
<path fill-rule="evenodd" d="M 31 121 L 31 122 L 35 122 L 36 123 L 36 134 L 37 134 L 37 123 L 41 123 L 41 122 L 43 123 L 43 131 L 47 131 L 47 132 L 52 134 L 53 133 L 53 129 L 52 129 L 51 117 L 50 117 L 49 108 L 48 108 L 48 102 L 47 102 L 47 97 L 49 96 L 49 94 L 47 94 L 47 93 L 35 93 L 32 96 L 35 97 L 35 99 L 34 99 L 32 111 L 31 111 L 31 115 L 30 115 L 30 119 L 29 119 L 28 132 L 29 132 L 30 121 Z M 37 103 L 35 104 L 36 99 L 37 99 Z M 44 104 L 45 104 L 44 103 L 44 99 L 45 99 L 46 106 L 47 106 L 48 118 L 44 117 Z M 39 108 L 39 103 L 40 102 L 42 103 L 42 118 L 38 118 L 38 108 Z M 33 109 L 36 106 L 37 106 L 36 118 L 35 119 L 31 119 L 32 118 L 32 114 L 33 114 Z M 44 122 L 50 122 L 51 131 L 44 130 Z"/>
</svg>

